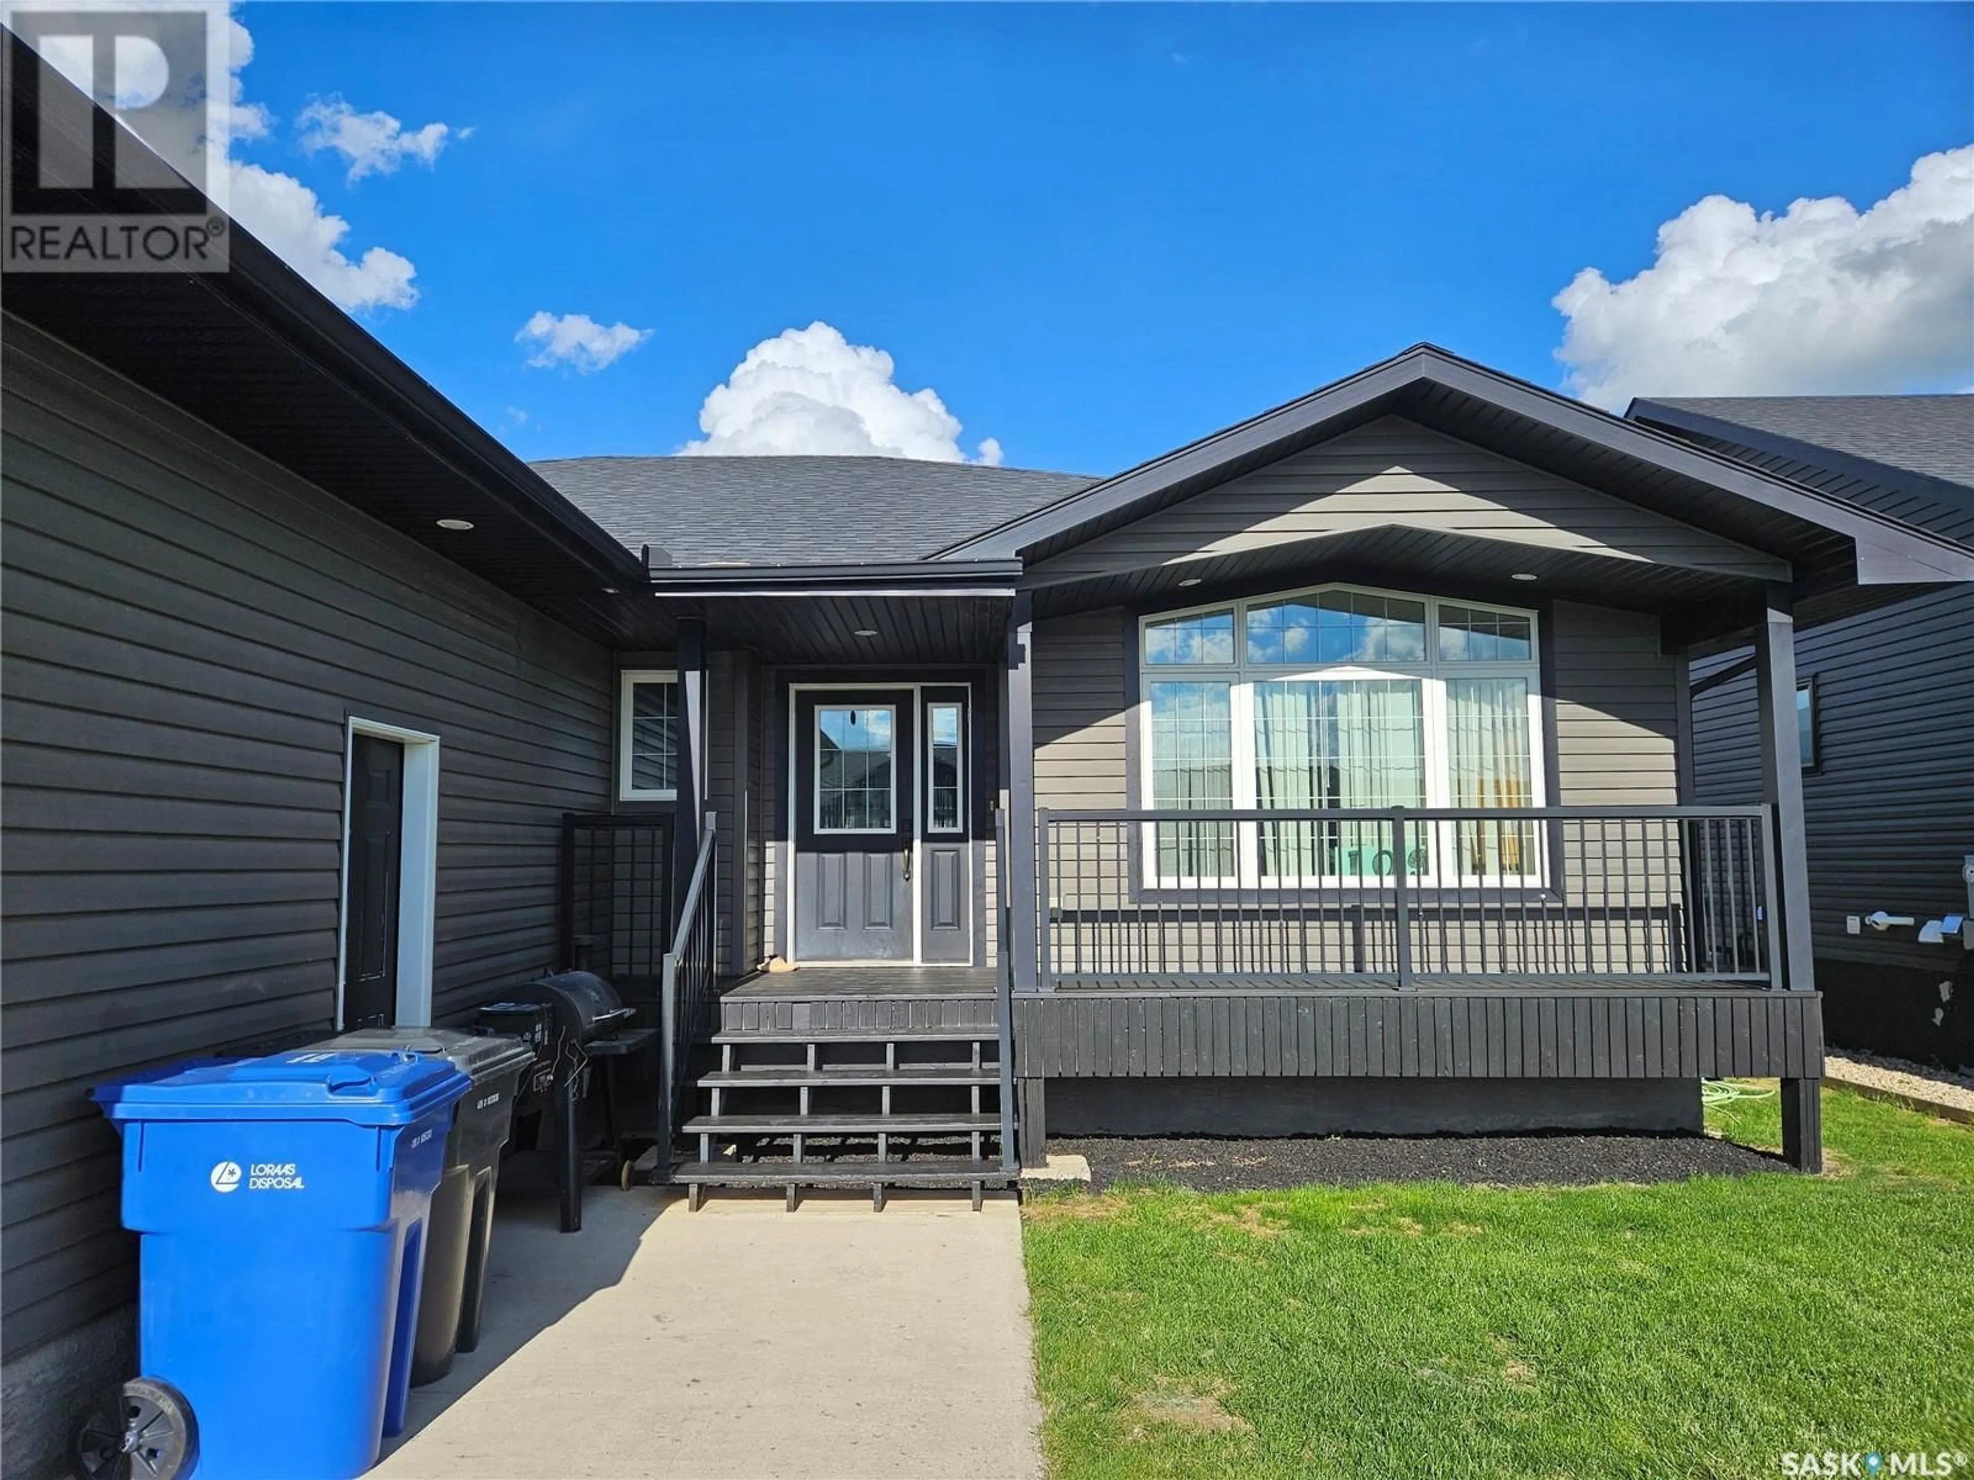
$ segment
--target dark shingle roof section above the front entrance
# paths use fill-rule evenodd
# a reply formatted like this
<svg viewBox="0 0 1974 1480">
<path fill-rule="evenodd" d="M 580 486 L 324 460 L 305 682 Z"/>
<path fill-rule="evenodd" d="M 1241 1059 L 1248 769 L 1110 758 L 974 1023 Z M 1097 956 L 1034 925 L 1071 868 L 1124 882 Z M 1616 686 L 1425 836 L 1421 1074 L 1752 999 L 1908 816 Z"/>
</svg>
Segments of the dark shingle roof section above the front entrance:
<svg viewBox="0 0 1974 1480">
<path fill-rule="evenodd" d="M 533 464 L 626 549 L 673 564 L 922 560 L 1094 478 L 906 458 L 561 458 Z"/>
</svg>

